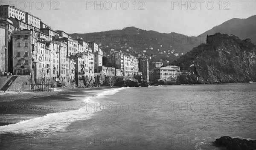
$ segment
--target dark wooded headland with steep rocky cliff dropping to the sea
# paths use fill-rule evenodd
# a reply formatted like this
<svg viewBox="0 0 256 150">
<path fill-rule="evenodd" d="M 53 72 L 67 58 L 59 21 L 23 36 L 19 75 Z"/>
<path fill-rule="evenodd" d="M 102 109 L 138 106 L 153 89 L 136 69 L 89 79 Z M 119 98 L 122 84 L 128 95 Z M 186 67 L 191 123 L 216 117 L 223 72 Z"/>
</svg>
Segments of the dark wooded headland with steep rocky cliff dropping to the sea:
<svg viewBox="0 0 256 150">
<path fill-rule="evenodd" d="M 181 84 L 256 82 L 256 45 L 249 39 L 216 33 L 207 42 L 175 60 L 194 75 L 180 76 Z M 190 65 L 194 67 L 190 67 Z M 198 77 L 198 80 L 197 80 Z"/>
</svg>

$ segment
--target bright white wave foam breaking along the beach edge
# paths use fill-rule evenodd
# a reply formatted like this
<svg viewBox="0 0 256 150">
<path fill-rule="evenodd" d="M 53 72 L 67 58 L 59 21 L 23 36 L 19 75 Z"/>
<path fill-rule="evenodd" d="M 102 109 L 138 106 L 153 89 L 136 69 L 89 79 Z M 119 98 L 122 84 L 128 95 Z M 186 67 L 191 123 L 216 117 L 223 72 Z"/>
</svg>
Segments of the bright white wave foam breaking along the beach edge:
<svg viewBox="0 0 256 150">
<path fill-rule="evenodd" d="M 103 98 L 107 95 L 113 95 L 124 88 L 117 88 L 112 90 L 103 91 L 102 93 L 96 94 L 96 96 L 86 97 L 83 102 L 92 103 L 93 100 Z M 47 132 L 56 130 L 65 130 L 65 127 L 71 122 L 79 120 L 90 119 L 93 116 L 94 111 L 88 111 L 86 106 L 78 110 L 71 110 L 61 113 L 48 113 L 45 116 L 23 120 L 16 124 L 1 126 L 0 133 L 25 133 L 25 132 Z"/>
</svg>

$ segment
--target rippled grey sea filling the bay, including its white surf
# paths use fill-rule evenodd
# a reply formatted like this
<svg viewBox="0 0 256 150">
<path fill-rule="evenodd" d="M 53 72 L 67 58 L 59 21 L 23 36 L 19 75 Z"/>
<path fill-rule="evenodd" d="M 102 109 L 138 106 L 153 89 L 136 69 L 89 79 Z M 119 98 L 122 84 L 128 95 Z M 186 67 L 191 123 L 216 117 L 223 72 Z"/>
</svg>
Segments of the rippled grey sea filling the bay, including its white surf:
<svg viewBox="0 0 256 150">
<path fill-rule="evenodd" d="M 0 127 L 0 149 L 225 150 L 215 139 L 256 140 L 255 82 L 81 88 L 71 97 L 76 110 L 5 116 L 17 123 Z"/>
</svg>

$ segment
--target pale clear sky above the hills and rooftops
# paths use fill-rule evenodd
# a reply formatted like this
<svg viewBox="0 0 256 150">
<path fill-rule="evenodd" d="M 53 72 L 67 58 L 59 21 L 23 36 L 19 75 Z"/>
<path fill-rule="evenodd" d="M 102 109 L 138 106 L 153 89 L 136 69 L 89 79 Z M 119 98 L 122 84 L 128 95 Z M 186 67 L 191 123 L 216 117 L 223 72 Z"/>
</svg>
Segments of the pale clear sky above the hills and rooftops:
<svg viewBox="0 0 256 150">
<path fill-rule="evenodd" d="M 256 15 L 256 0 L 1 0 L 3 4 L 69 34 L 134 26 L 197 36 L 232 18 Z"/>
</svg>

